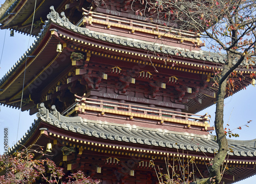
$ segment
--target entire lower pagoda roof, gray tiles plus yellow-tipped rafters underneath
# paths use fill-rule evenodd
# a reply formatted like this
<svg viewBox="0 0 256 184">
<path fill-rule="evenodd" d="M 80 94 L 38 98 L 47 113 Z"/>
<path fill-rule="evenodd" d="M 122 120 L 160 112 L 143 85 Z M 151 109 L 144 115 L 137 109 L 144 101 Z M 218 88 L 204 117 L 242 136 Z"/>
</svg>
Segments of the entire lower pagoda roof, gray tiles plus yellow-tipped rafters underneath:
<svg viewBox="0 0 256 184">
<path fill-rule="evenodd" d="M 55 139 L 61 138 L 72 141 L 74 144 L 82 142 L 91 146 L 101 145 L 103 147 L 120 148 L 121 150 L 124 148 L 124 150 L 142 149 L 147 150 L 147 153 L 158 156 L 178 152 L 178 154 L 185 153 L 188 156 L 195 156 L 196 159 L 210 160 L 218 152 L 218 144 L 213 135 L 173 132 L 161 128 L 152 129 L 129 124 L 121 125 L 113 122 L 84 119 L 79 116 L 67 117 L 61 115 L 55 106 L 52 106 L 52 111 L 49 111 L 43 103 L 39 106 L 37 117 L 38 119 L 32 124 L 30 130 L 9 150 L 9 153 L 12 154 L 15 150 L 22 149 L 23 147 L 20 145 L 44 144 L 48 142 L 47 137 L 50 135 L 53 136 L 52 139 L 54 137 Z M 40 131 L 39 136 L 35 135 L 37 130 Z M 41 136 L 42 134 L 47 136 Z M 69 143 L 68 145 L 73 144 Z M 256 164 L 255 145 L 256 139 L 228 139 L 230 151 L 228 151 L 228 158 L 225 162 L 233 167 L 241 167 L 237 164 L 246 164 L 246 167 L 253 168 Z M 228 172 L 234 175 L 234 181 L 242 180 L 255 174 L 255 169 L 246 169 L 246 167 L 236 168 Z M 234 181 L 225 180 L 225 183 Z"/>
</svg>

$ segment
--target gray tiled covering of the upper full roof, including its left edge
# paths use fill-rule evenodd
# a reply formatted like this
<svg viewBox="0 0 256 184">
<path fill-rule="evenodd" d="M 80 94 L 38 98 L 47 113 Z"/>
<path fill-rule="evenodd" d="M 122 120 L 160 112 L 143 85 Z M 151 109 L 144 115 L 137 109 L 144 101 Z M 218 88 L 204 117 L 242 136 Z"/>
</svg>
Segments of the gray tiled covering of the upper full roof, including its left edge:
<svg viewBox="0 0 256 184">
<path fill-rule="evenodd" d="M 169 55 L 176 55 L 186 58 L 193 58 L 193 59 L 199 59 L 202 61 L 207 61 L 211 63 L 216 64 L 224 64 L 225 61 L 225 55 L 221 55 L 218 53 L 212 53 L 212 52 L 206 52 L 206 51 L 186 51 L 183 48 L 177 48 L 172 46 L 167 46 L 163 44 L 156 44 L 151 42 L 146 42 L 144 40 L 139 39 L 133 39 L 133 38 L 127 38 L 123 36 L 116 36 L 113 34 L 106 34 L 102 32 L 96 32 L 91 31 L 87 28 L 78 27 L 76 25 L 73 25 L 71 22 L 69 22 L 68 18 L 65 16 L 64 12 L 61 12 L 59 15 L 53 8 L 53 6 L 50 8 L 51 12 L 47 15 L 47 18 L 49 21 L 45 21 L 45 25 L 40 30 L 40 33 L 38 33 L 38 36 L 36 37 L 35 42 L 32 44 L 32 46 L 26 51 L 26 53 L 13 65 L 13 67 L 6 73 L 2 79 L 0 79 L 0 85 L 4 83 L 4 81 L 20 66 L 20 64 L 24 63 L 26 60 L 26 56 L 30 55 L 32 51 L 37 47 L 37 45 L 40 43 L 42 37 L 46 34 L 46 31 L 50 25 L 50 23 L 55 23 L 59 26 L 65 27 L 69 30 L 72 30 L 74 32 L 78 32 L 81 35 L 92 37 L 98 40 L 102 40 L 104 42 L 118 44 L 122 46 L 127 47 L 133 47 L 143 50 L 150 50 L 150 51 L 156 51 L 163 54 L 169 54 Z M 250 65 L 256 65 L 252 61 L 249 62 Z M 248 63 L 244 63 L 244 65 L 249 65 Z"/>
</svg>

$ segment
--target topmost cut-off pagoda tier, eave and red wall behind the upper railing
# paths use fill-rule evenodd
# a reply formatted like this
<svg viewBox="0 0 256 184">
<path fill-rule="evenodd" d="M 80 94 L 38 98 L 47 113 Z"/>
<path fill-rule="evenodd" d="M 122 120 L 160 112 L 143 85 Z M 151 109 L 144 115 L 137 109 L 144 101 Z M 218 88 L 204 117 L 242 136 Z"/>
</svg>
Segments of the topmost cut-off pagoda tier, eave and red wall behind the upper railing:
<svg viewBox="0 0 256 184">
<path fill-rule="evenodd" d="M 75 24 L 81 18 L 82 8 L 89 10 L 93 8 L 94 12 L 114 15 L 115 17 L 124 17 L 134 19 L 142 22 L 154 22 L 159 25 L 166 25 L 168 27 L 177 27 L 175 23 L 166 22 L 158 19 L 148 19 L 147 16 L 152 16 L 153 10 L 144 13 L 144 16 L 136 15 L 135 10 L 143 9 L 145 5 L 139 2 L 132 1 L 101 1 L 101 0 L 87 0 L 87 1 L 73 1 L 68 0 L 38 0 L 36 5 L 33 0 L 16 0 L 13 5 L 0 17 L 1 29 L 13 29 L 18 32 L 30 34 L 30 28 L 33 22 L 32 35 L 36 35 L 44 21 L 50 6 L 54 6 L 57 12 L 65 12 L 70 21 Z M 34 12 L 35 9 L 35 12 Z"/>
</svg>

